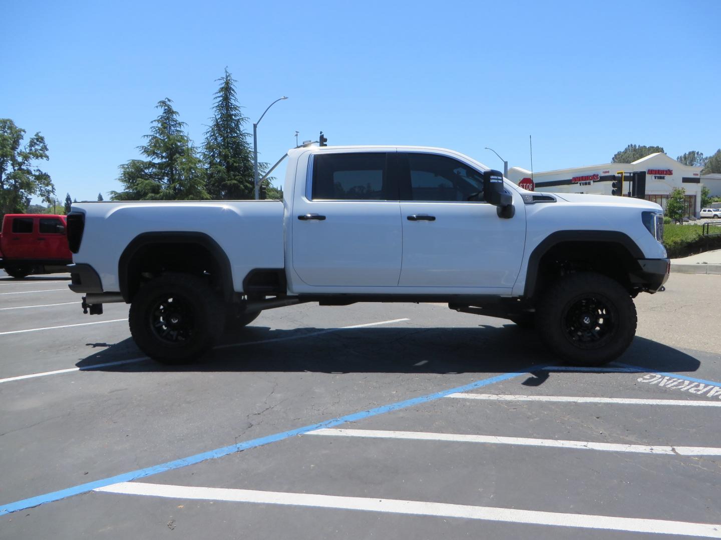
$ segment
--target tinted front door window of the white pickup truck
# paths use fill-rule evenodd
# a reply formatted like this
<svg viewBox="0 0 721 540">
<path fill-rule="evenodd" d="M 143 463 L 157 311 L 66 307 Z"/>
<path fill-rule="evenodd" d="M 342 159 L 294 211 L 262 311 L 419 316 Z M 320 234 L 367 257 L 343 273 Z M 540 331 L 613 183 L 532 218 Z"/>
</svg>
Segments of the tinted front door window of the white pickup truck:
<svg viewBox="0 0 721 540">
<path fill-rule="evenodd" d="M 454 158 L 432 154 L 406 154 L 410 169 L 411 200 L 467 201 L 470 196 L 482 200 L 483 176 Z"/>
</svg>

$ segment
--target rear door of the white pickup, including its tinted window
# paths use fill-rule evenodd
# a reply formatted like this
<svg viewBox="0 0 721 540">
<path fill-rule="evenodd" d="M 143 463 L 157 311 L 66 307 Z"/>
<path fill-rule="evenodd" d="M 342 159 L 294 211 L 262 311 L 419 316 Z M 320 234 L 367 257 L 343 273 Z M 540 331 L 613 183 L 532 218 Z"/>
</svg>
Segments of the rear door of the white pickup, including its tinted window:
<svg viewBox="0 0 721 540">
<path fill-rule="evenodd" d="M 311 181 L 296 186 L 291 215 L 293 270 L 309 286 L 299 284 L 298 292 L 397 286 L 402 228 L 397 178 L 388 166 L 392 155 L 377 151 L 311 156 Z"/>
</svg>

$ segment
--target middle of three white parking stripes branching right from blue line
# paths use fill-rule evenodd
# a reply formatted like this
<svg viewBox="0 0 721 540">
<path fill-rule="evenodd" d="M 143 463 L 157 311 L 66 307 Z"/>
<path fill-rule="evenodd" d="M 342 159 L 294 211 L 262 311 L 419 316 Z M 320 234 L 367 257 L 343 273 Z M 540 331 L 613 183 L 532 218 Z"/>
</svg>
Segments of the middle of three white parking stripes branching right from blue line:
<svg viewBox="0 0 721 540">
<path fill-rule="evenodd" d="M 413 441 L 448 441 L 454 443 L 510 444 L 517 446 L 546 446 L 577 450 L 632 452 L 635 454 L 668 454 L 678 456 L 721 456 L 721 448 L 712 446 L 645 446 L 642 444 L 595 443 L 592 441 L 563 441 L 553 438 L 499 437 L 494 435 L 465 435 L 461 433 L 428 433 L 425 431 L 384 431 L 376 429 L 317 429 L 306 435 L 363 438 L 401 438 Z"/>
</svg>

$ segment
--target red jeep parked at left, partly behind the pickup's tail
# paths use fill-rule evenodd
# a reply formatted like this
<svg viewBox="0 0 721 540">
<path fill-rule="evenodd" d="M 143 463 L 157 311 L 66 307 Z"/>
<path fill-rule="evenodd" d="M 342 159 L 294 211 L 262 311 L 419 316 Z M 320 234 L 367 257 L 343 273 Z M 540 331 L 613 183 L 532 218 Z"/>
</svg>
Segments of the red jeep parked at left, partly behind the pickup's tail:
<svg viewBox="0 0 721 540">
<path fill-rule="evenodd" d="M 0 234 L 0 268 L 13 277 L 66 272 L 73 262 L 64 215 L 6 214 Z"/>
</svg>

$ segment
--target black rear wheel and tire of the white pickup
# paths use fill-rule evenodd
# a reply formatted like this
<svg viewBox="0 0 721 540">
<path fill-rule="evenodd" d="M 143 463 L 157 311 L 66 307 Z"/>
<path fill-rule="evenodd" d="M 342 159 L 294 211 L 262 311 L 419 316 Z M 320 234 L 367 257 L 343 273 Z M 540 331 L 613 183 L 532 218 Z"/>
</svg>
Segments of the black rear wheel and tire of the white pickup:
<svg viewBox="0 0 721 540">
<path fill-rule="evenodd" d="M 129 324 L 145 354 L 164 364 L 187 364 L 213 346 L 223 317 L 221 300 L 204 279 L 168 273 L 143 284 Z"/>
</svg>

